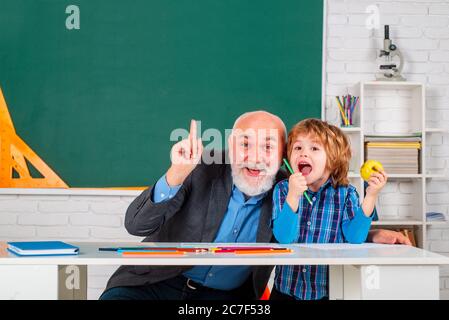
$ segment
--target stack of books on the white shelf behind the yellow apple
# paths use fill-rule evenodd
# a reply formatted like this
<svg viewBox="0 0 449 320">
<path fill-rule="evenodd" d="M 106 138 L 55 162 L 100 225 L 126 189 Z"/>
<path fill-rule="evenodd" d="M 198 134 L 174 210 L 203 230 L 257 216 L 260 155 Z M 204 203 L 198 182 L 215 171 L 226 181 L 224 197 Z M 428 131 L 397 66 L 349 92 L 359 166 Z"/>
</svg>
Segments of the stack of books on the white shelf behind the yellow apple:
<svg viewBox="0 0 449 320">
<path fill-rule="evenodd" d="M 382 163 L 388 173 L 420 173 L 421 136 L 365 136 L 365 160 Z"/>
</svg>

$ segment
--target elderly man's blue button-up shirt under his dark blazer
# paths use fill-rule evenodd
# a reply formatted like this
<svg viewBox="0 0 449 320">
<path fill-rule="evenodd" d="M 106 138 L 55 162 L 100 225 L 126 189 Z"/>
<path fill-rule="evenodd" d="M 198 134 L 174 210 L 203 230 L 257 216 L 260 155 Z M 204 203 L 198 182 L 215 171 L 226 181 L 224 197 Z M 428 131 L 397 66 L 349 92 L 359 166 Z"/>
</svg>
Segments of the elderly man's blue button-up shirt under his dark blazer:
<svg viewBox="0 0 449 320">
<path fill-rule="evenodd" d="M 180 187 L 170 187 L 164 175 L 155 185 L 153 201 L 161 202 L 172 198 Z M 256 242 L 265 196 L 266 193 L 245 200 L 243 193 L 233 186 L 228 208 L 214 242 Z M 184 276 L 209 288 L 232 290 L 241 286 L 250 273 L 249 266 L 196 266 L 186 271 Z"/>
</svg>

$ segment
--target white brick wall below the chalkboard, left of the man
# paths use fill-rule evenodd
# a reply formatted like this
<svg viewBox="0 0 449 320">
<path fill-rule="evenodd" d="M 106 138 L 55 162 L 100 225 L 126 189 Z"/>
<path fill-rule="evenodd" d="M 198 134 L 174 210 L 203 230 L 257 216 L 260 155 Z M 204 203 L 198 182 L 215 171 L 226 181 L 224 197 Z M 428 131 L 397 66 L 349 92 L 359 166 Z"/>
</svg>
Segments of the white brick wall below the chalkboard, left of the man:
<svg viewBox="0 0 449 320">
<path fill-rule="evenodd" d="M 141 241 L 123 223 L 135 196 L 2 195 L 0 241 Z M 117 266 L 88 268 L 87 297 L 96 300 Z"/>
</svg>

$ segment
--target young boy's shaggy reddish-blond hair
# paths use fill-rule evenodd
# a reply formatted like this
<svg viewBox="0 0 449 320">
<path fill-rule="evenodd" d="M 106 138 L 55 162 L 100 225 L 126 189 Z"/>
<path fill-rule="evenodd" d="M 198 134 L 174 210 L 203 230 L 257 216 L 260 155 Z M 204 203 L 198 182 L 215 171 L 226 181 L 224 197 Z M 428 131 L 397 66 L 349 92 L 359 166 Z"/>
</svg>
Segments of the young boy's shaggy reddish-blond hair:
<svg viewBox="0 0 449 320">
<path fill-rule="evenodd" d="M 347 186 L 351 147 L 343 131 L 319 119 L 305 119 L 298 122 L 288 134 L 287 156 L 289 159 L 293 144 L 299 135 L 310 135 L 323 145 L 327 154 L 326 169 L 330 172 L 334 188 Z"/>
</svg>

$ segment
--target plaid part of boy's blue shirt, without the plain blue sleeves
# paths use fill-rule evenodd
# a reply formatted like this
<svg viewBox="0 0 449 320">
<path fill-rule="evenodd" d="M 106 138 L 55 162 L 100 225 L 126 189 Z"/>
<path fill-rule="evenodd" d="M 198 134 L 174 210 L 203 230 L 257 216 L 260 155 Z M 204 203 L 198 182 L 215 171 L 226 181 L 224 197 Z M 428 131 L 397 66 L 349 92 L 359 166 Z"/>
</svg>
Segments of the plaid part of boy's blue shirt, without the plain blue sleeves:
<svg viewBox="0 0 449 320">
<path fill-rule="evenodd" d="M 335 189 L 329 179 L 317 192 L 307 192 L 313 205 L 301 197 L 296 243 L 345 242 L 342 224 L 352 220 L 355 212 L 361 210 L 355 187 L 349 185 Z M 288 180 L 283 180 L 273 192 L 273 221 L 281 213 L 287 193 Z M 329 295 L 328 273 L 328 266 L 277 266 L 275 286 L 297 299 L 321 299 Z"/>
</svg>

